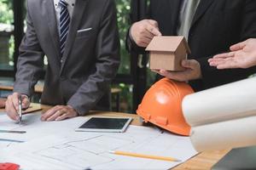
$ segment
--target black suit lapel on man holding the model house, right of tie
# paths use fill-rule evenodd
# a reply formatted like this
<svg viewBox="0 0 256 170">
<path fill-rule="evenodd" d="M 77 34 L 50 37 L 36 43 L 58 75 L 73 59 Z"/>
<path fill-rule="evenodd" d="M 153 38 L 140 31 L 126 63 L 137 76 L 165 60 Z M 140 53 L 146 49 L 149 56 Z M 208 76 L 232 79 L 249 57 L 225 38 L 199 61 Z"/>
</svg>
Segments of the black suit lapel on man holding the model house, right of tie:
<svg viewBox="0 0 256 170">
<path fill-rule="evenodd" d="M 189 0 L 190 1 L 190 0 Z M 195 24 L 197 20 L 199 20 L 202 16 L 207 11 L 207 8 L 210 7 L 210 5 L 213 3 L 214 0 L 201 0 L 199 3 L 199 6 L 195 12 L 194 19 L 192 21 L 191 27 Z"/>
</svg>

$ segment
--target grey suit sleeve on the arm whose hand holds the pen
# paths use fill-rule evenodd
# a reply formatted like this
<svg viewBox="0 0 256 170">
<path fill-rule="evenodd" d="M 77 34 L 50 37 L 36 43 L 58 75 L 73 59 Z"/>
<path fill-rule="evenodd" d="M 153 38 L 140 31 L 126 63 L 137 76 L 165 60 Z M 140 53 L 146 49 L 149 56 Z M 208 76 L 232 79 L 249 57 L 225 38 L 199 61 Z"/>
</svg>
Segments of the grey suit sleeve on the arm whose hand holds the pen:
<svg viewBox="0 0 256 170">
<path fill-rule="evenodd" d="M 43 71 L 44 53 L 33 27 L 29 3 L 27 3 L 26 26 L 26 35 L 20 44 L 14 92 L 31 96 Z"/>
</svg>

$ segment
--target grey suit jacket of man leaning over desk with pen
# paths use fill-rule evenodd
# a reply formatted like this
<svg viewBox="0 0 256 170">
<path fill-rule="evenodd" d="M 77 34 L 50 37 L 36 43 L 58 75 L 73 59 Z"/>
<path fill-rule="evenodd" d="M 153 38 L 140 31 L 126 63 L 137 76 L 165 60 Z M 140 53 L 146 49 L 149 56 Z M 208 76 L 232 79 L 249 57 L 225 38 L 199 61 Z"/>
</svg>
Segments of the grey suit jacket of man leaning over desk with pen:
<svg viewBox="0 0 256 170">
<path fill-rule="evenodd" d="M 86 28 L 91 30 L 83 31 Z M 61 59 L 53 1 L 28 0 L 27 30 L 20 45 L 16 92 L 32 94 L 43 69 L 44 54 L 48 67 L 41 102 L 71 105 L 80 115 L 90 111 L 103 94 L 108 94 L 108 85 L 119 67 L 114 1 L 76 1 Z"/>
</svg>

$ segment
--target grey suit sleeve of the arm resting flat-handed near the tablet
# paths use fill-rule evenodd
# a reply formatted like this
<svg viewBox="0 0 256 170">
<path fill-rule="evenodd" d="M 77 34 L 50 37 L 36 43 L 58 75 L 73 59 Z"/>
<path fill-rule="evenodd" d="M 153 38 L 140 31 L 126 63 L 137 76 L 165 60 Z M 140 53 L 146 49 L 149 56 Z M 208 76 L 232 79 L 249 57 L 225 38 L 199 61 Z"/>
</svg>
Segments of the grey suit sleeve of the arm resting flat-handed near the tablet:
<svg viewBox="0 0 256 170">
<path fill-rule="evenodd" d="M 109 91 L 109 84 L 119 68 L 119 33 L 115 3 L 108 0 L 104 7 L 96 41 L 96 71 L 67 102 L 79 115 L 90 111 L 102 95 Z"/>
</svg>

